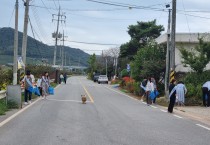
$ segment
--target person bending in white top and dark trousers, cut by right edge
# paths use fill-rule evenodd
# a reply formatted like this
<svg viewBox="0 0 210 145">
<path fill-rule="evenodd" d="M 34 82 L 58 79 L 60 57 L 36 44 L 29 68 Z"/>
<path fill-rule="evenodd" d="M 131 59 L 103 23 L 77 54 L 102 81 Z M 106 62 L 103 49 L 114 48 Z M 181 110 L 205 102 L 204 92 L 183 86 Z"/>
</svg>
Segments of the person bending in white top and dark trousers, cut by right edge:
<svg viewBox="0 0 210 145">
<path fill-rule="evenodd" d="M 203 92 L 203 106 L 209 107 L 210 106 L 210 81 L 205 82 L 202 86 Z"/>
</svg>

